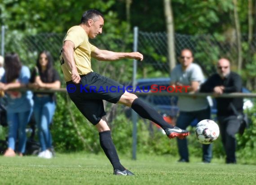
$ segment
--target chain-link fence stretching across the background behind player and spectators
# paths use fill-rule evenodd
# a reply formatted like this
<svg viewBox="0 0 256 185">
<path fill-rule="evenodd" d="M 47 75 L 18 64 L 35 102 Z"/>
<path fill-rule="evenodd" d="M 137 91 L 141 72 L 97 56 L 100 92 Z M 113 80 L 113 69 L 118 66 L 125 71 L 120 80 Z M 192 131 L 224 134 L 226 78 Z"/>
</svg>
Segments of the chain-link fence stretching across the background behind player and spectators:
<svg viewBox="0 0 256 185">
<path fill-rule="evenodd" d="M 4 53 L 18 53 L 22 63 L 31 69 L 35 66 L 38 54 L 41 51 L 50 51 L 55 61 L 54 66 L 61 75 L 61 79 L 64 79 L 59 62 L 59 53 L 64 36 L 65 33 L 22 35 L 16 31 L 7 30 L 4 38 L 0 38 L 0 40 L 4 40 Z M 96 40 L 91 40 L 91 43 L 101 49 L 132 52 L 133 36 L 129 34 L 118 37 L 111 34 L 102 34 L 98 35 Z M 150 33 L 139 31 L 137 48 L 139 52 L 144 54 L 144 61 L 137 62 L 137 85 L 168 85 L 170 71 L 167 34 L 165 32 Z M 190 48 L 194 52 L 194 62 L 202 67 L 206 77 L 215 72 L 215 65 L 220 57 L 230 58 L 233 70 L 237 69 L 238 46 L 235 37 L 232 35 L 225 37 L 223 35 L 175 34 L 176 53 L 173 54 L 179 56 L 183 48 Z M 253 35 L 250 41 L 248 41 L 247 35 L 242 36 L 242 51 L 243 70 L 241 75 L 246 77 L 244 79 L 247 79 L 245 85 L 252 89 L 256 84 L 256 35 Z M 92 66 L 94 71 L 106 75 L 121 84 L 132 84 L 133 66 L 130 59 L 124 59 L 119 62 L 99 62 L 93 59 Z M 62 81 L 62 87 L 65 87 L 64 81 Z M 163 115 L 170 115 L 171 117 L 177 115 L 177 97 L 144 95 L 142 98 Z M 105 102 L 105 107 L 110 127 L 112 128 L 115 127 L 115 125 L 111 125 L 112 120 L 115 120 L 119 113 L 125 113 L 126 117 L 131 116 L 131 110 L 125 106 L 117 106 Z M 168 120 L 168 117 L 166 120 L 168 122 L 173 121 Z M 150 131 L 153 131 L 150 122 L 146 120 L 143 120 L 143 122 Z"/>
</svg>

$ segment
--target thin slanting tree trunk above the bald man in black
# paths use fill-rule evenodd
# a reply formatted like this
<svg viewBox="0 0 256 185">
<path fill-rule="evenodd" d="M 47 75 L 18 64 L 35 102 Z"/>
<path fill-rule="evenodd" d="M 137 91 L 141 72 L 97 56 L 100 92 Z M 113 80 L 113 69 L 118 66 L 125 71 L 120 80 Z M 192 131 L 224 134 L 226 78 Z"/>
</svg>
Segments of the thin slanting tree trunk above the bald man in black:
<svg viewBox="0 0 256 185">
<path fill-rule="evenodd" d="M 234 22 L 236 29 L 236 40 L 237 40 L 237 52 L 238 52 L 238 73 L 241 72 L 242 69 L 242 46 L 241 46 L 241 31 L 240 31 L 240 23 L 237 12 L 237 0 L 233 0 L 234 4 Z"/>
</svg>

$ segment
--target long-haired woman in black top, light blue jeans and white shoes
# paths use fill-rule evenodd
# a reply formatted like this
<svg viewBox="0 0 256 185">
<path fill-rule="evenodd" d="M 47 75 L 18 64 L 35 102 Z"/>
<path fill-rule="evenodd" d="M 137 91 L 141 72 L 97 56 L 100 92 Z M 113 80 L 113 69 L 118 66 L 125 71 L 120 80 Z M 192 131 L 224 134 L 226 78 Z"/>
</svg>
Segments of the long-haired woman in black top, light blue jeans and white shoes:
<svg viewBox="0 0 256 185">
<path fill-rule="evenodd" d="M 61 87 L 59 75 L 53 68 L 53 57 L 49 51 L 42 51 L 39 54 L 29 87 L 35 89 L 57 89 Z M 54 93 L 34 93 L 34 101 L 34 117 L 41 145 L 41 152 L 38 156 L 50 159 L 53 157 L 50 124 L 56 108 L 56 97 Z"/>
</svg>

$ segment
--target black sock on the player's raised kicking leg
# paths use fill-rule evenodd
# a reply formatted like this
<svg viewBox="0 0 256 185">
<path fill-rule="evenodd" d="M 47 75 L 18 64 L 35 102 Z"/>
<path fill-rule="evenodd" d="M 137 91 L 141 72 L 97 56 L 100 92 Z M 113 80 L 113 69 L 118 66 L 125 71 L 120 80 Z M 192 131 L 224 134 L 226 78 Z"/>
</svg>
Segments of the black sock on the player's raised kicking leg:
<svg viewBox="0 0 256 185">
<path fill-rule="evenodd" d="M 166 128 L 173 128 L 172 125 L 164 121 L 163 116 L 160 115 L 153 107 L 141 101 L 139 98 L 136 98 L 132 102 L 132 109 L 142 118 L 149 119 L 150 121 L 158 124 L 161 128 L 163 128 L 163 130 Z"/>
</svg>

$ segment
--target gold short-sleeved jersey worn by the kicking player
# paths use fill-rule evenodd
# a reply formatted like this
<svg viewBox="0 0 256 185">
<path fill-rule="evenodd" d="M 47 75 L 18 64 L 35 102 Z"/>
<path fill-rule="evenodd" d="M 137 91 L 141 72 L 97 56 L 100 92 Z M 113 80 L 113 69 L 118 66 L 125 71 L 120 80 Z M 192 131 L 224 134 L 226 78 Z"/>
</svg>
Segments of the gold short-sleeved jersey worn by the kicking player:
<svg viewBox="0 0 256 185">
<path fill-rule="evenodd" d="M 66 40 L 70 40 L 75 44 L 74 59 L 79 75 L 86 75 L 87 73 L 92 72 L 91 52 L 93 52 L 96 47 L 89 43 L 88 35 L 84 29 L 81 26 L 71 27 L 67 31 L 63 43 Z M 65 81 L 71 81 L 71 68 L 69 67 L 68 63 L 64 61 L 62 52 L 60 55 L 60 60 Z"/>
</svg>

